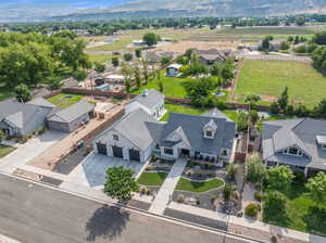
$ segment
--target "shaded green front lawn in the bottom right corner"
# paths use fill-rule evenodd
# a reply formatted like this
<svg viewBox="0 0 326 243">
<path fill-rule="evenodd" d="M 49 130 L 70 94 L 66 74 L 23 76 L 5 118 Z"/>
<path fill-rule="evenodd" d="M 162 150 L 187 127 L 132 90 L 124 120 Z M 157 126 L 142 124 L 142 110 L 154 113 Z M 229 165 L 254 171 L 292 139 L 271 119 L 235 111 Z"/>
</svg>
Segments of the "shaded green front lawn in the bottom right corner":
<svg viewBox="0 0 326 243">
<path fill-rule="evenodd" d="M 277 212 L 263 213 L 263 221 L 273 225 L 326 235 L 326 206 L 317 206 L 309 196 L 304 186 L 296 184 L 289 192 L 287 215 Z"/>
</svg>

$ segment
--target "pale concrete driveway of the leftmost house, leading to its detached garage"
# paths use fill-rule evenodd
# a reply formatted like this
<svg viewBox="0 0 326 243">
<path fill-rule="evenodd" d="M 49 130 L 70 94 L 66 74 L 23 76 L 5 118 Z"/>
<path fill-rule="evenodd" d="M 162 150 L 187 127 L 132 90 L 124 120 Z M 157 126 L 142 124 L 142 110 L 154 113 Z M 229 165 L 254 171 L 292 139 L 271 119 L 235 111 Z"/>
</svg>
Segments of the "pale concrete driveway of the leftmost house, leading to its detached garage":
<svg viewBox="0 0 326 243">
<path fill-rule="evenodd" d="M 0 170 L 13 172 L 15 168 L 25 165 L 66 136 L 67 133 L 49 130 L 41 136 L 29 139 L 24 144 L 11 144 L 17 149 L 0 159 Z"/>
</svg>

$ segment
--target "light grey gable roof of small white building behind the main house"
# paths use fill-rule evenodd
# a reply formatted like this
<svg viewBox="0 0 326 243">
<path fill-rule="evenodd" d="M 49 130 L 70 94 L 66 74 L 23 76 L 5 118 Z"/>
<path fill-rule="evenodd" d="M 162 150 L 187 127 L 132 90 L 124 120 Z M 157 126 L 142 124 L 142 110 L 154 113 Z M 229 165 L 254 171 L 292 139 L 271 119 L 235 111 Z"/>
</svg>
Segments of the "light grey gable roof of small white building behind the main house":
<svg viewBox="0 0 326 243">
<path fill-rule="evenodd" d="M 145 107 L 151 110 L 158 104 L 164 102 L 164 95 L 156 91 L 155 89 L 145 90 L 142 93 L 134 98 L 129 103 L 138 102 Z"/>
</svg>

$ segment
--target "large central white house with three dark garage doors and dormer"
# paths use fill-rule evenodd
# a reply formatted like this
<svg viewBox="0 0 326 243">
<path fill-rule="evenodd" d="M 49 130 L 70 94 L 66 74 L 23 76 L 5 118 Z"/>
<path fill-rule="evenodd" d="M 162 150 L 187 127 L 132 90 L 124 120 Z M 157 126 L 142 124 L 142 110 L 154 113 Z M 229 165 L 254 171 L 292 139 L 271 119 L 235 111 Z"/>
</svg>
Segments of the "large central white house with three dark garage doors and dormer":
<svg viewBox="0 0 326 243">
<path fill-rule="evenodd" d="M 229 163 L 235 148 L 236 124 L 214 114 L 172 113 L 167 123 L 156 122 L 138 108 L 93 141 L 97 153 L 145 163 L 153 154 L 166 159 L 192 157 Z"/>
</svg>

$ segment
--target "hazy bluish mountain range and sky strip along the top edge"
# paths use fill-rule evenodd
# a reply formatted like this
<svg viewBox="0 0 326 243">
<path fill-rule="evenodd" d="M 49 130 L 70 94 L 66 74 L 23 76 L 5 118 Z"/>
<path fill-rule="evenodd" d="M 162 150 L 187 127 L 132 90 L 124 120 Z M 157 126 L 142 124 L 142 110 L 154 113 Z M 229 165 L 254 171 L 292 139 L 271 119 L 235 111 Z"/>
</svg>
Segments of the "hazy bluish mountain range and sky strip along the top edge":
<svg viewBox="0 0 326 243">
<path fill-rule="evenodd" d="M 9 0 L 0 21 L 326 13 L 325 0 Z"/>
</svg>

